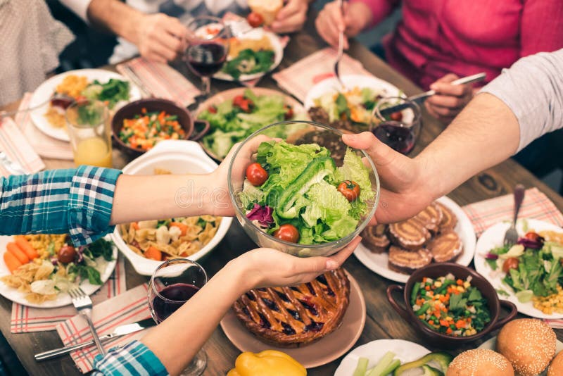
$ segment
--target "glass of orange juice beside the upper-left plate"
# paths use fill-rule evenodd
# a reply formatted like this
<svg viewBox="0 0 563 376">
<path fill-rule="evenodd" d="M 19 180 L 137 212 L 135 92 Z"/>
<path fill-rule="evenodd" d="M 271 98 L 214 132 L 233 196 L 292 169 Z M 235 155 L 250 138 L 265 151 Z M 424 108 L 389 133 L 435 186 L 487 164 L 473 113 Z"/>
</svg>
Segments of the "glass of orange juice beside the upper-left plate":
<svg viewBox="0 0 563 376">
<path fill-rule="evenodd" d="M 68 106 L 65 117 L 75 165 L 111 168 L 108 106 L 101 101 L 77 101 Z"/>
</svg>

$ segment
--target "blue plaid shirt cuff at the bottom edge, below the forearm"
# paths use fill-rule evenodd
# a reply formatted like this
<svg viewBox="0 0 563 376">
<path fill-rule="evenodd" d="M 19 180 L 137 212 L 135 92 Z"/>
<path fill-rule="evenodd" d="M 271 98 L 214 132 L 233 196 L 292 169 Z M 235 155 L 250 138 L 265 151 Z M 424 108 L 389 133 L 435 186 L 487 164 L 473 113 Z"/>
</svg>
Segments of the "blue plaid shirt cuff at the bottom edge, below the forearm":
<svg viewBox="0 0 563 376">
<path fill-rule="evenodd" d="M 168 371 L 156 355 L 139 341 L 111 349 L 105 356 L 97 355 L 94 359 L 92 375 L 164 376 Z"/>
</svg>

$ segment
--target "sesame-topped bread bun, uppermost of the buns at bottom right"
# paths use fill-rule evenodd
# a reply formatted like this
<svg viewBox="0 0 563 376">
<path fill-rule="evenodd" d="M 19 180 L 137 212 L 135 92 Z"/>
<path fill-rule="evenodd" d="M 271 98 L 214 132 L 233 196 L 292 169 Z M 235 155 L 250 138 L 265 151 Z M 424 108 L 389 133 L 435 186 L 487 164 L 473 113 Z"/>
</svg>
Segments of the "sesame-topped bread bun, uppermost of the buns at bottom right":
<svg viewBox="0 0 563 376">
<path fill-rule="evenodd" d="M 545 322 L 531 318 L 513 320 L 500 330 L 497 351 L 521 376 L 541 373 L 555 355 L 557 337 Z"/>
</svg>

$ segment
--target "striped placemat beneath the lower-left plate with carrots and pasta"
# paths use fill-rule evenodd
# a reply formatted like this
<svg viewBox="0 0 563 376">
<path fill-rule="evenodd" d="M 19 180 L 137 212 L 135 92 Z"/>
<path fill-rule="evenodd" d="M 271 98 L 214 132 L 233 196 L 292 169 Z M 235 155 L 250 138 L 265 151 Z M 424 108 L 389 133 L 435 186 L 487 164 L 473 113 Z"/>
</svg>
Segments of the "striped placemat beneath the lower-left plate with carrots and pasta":
<svg viewBox="0 0 563 376">
<path fill-rule="evenodd" d="M 115 269 L 100 289 L 90 297 L 94 304 L 107 301 L 114 296 L 122 294 L 127 290 L 125 284 L 125 262 L 122 256 L 118 256 Z M 44 332 L 56 330 L 59 323 L 76 315 L 76 309 L 70 305 L 60 308 L 31 308 L 12 303 L 11 332 Z"/>
</svg>

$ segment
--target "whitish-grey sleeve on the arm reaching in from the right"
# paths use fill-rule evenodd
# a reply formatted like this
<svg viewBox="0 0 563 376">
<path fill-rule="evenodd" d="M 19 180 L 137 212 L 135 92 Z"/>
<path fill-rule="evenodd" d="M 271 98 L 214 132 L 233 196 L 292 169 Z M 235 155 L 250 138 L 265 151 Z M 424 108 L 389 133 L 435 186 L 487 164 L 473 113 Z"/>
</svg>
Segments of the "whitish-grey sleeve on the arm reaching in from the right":
<svg viewBox="0 0 563 376">
<path fill-rule="evenodd" d="M 563 128 L 563 49 L 527 56 L 487 84 L 520 126 L 518 151 L 545 133 Z"/>
</svg>

